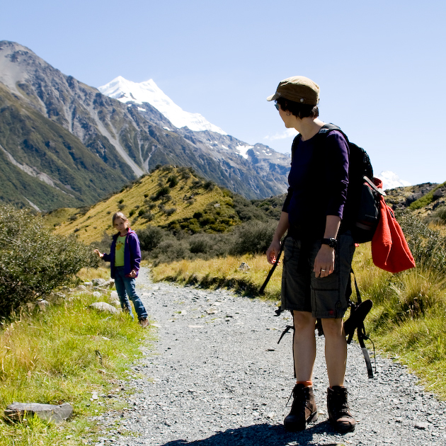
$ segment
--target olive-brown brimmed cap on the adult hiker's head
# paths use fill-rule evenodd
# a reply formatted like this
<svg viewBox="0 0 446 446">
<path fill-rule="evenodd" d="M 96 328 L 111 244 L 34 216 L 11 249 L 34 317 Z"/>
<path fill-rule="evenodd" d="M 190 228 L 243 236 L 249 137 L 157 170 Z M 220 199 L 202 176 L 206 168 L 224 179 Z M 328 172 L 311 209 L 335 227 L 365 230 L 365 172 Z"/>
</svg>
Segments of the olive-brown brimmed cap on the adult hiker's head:
<svg viewBox="0 0 446 446">
<path fill-rule="evenodd" d="M 319 102 L 319 85 L 305 76 L 292 76 L 280 81 L 275 94 L 268 96 L 267 101 L 278 98 L 289 99 L 297 103 L 316 105 Z"/>
</svg>

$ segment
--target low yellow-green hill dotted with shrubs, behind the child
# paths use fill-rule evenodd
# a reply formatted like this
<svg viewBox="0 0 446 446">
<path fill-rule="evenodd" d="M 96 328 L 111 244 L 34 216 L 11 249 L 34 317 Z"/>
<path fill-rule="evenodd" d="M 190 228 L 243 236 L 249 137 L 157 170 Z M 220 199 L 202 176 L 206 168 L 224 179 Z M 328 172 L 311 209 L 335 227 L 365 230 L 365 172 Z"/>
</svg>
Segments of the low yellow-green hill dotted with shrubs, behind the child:
<svg viewBox="0 0 446 446">
<path fill-rule="evenodd" d="M 160 166 L 92 207 L 59 209 L 47 221 L 59 234 L 91 243 L 114 234 L 112 216 L 122 210 L 132 229 L 156 226 L 172 234 L 225 232 L 248 219 L 265 220 L 249 200 L 201 178 L 191 168 Z"/>
</svg>

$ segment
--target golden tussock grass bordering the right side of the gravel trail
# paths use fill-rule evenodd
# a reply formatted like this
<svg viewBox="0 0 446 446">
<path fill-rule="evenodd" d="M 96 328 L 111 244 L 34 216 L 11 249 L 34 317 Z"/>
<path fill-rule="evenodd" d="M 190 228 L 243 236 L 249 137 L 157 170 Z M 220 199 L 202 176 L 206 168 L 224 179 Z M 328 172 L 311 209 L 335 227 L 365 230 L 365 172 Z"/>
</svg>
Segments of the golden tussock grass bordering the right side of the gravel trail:
<svg viewBox="0 0 446 446">
<path fill-rule="evenodd" d="M 241 262 L 250 270 L 239 270 Z M 269 299 L 280 299 L 281 269 L 266 287 Z M 269 270 L 265 256 L 258 255 L 161 264 L 152 273 L 154 280 L 230 287 L 256 296 Z M 374 304 L 366 330 L 377 349 L 408 365 L 429 391 L 446 398 L 446 275 L 438 263 L 422 261 L 393 275 L 373 265 L 370 244 L 363 244 L 355 252 L 353 270 L 362 299 Z"/>
</svg>

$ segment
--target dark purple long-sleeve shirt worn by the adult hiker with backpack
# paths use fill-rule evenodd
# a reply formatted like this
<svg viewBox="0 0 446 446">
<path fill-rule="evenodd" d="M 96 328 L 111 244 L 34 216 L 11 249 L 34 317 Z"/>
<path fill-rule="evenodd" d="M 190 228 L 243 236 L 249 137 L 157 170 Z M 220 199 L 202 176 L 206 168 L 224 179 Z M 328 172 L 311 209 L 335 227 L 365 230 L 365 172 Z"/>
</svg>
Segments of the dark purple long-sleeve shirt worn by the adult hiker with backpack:
<svg viewBox="0 0 446 446">
<path fill-rule="evenodd" d="M 324 236 L 326 216 L 342 219 L 348 188 L 348 143 L 341 132 L 316 134 L 292 144 L 292 165 L 283 212 L 290 232 L 318 239 Z"/>
</svg>

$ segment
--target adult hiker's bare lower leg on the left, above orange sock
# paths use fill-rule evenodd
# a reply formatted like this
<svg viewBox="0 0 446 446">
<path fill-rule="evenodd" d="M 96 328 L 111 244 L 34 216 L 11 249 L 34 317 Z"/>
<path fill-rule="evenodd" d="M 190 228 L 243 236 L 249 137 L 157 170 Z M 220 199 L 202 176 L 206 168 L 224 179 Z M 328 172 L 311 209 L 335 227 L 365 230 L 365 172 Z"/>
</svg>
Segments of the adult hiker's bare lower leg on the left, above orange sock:
<svg viewBox="0 0 446 446">
<path fill-rule="evenodd" d="M 293 311 L 295 335 L 293 355 L 297 382 L 312 381 L 316 359 L 316 319 L 308 311 Z"/>
</svg>

